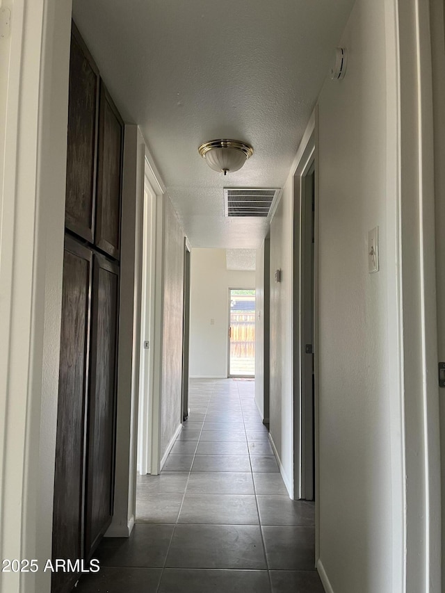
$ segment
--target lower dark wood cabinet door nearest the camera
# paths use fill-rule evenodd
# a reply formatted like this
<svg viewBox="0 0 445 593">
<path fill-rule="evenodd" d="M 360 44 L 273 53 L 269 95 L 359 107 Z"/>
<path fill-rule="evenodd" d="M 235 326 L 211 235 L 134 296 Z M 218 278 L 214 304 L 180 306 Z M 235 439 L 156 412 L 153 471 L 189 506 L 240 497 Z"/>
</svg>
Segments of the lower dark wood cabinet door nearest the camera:
<svg viewBox="0 0 445 593">
<path fill-rule="evenodd" d="M 65 237 L 62 327 L 54 476 L 53 559 L 83 557 L 83 477 L 88 389 L 92 252 Z M 79 578 L 52 574 L 52 593 L 70 592 Z"/>
</svg>

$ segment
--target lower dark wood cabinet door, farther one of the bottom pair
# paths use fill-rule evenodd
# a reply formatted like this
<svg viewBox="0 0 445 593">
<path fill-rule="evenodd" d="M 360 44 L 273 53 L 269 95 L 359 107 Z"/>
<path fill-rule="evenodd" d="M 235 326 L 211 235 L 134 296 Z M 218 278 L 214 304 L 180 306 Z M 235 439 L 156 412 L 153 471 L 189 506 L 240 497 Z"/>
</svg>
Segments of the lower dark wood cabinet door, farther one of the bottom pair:
<svg viewBox="0 0 445 593">
<path fill-rule="evenodd" d="M 86 482 L 86 558 L 111 523 L 115 462 L 115 391 L 119 270 L 95 254 Z"/>
</svg>

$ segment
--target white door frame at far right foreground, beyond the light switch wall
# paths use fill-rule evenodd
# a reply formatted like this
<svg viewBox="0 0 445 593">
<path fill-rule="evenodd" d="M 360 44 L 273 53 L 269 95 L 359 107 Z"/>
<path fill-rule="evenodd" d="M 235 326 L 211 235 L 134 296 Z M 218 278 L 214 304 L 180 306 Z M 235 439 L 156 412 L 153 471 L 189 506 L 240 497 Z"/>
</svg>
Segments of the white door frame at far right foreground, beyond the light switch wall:
<svg viewBox="0 0 445 593">
<path fill-rule="evenodd" d="M 397 51 L 395 63 L 387 65 L 387 95 L 398 115 L 387 145 L 387 162 L 396 172 L 387 193 L 396 196 L 394 383 L 401 393 L 395 406 L 400 434 L 391 447 L 401 458 L 395 480 L 403 492 L 403 505 L 391 501 L 403 530 L 394 564 L 403 571 L 406 590 L 422 593 L 442 591 L 431 6 L 437 9 L 437 2 L 407 0 L 385 17 L 387 46 Z"/>
</svg>

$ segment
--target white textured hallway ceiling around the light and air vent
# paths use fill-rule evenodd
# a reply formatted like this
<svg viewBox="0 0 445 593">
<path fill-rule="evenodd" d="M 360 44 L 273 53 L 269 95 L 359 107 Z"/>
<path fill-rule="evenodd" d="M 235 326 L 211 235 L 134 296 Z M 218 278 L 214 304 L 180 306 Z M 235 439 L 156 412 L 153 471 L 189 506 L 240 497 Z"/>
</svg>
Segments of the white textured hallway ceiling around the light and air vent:
<svg viewBox="0 0 445 593">
<path fill-rule="evenodd" d="M 223 187 L 282 187 L 353 0 L 74 0 L 127 122 L 143 131 L 193 247 L 261 245 L 267 220 L 224 218 Z M 197 147 L 245 140 L 238 172 Z"/>
</svg>

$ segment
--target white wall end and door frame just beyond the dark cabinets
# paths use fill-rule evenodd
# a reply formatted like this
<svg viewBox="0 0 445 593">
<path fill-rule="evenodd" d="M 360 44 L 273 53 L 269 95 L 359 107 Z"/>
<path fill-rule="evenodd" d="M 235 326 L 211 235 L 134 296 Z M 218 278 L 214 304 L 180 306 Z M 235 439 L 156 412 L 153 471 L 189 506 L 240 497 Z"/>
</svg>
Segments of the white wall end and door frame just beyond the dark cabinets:
<svg viewBox="0 0 445 593">
<path fill-rule="evenodd" d="M 143 198 L 145 176 L 156 195 L 153 215 L 156 238 L 154 255 L 154 343 L 152 402 L 152 459 L 150 470 L 159 473 L 159 435 L 163 318 L 163 210 L 165 186 L 153 163 L 140 129 L 125 126 L 122 193 L 121 302 L 118 346 L 118 416 L 116 434 L 115 503 L 107 537 L 129 537 L 135 523 L 138 456 L 138 400 L 140 377 L 140 307 L 143 249 Z M 155 216 L 156 215 L 156 216 Z M 157 407 L 156 407 L 157 405 Z M 156 446 L 158 456 L 156 455 Z M 155 449 L 153 453 L 153 448 Z M 157 464 L 156 464 L 157 462 Z"/>
</svg>

